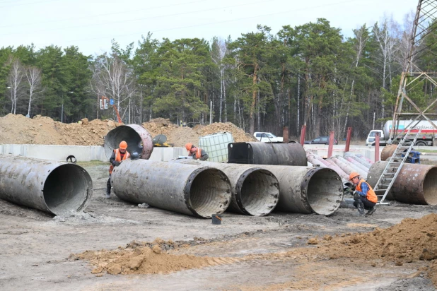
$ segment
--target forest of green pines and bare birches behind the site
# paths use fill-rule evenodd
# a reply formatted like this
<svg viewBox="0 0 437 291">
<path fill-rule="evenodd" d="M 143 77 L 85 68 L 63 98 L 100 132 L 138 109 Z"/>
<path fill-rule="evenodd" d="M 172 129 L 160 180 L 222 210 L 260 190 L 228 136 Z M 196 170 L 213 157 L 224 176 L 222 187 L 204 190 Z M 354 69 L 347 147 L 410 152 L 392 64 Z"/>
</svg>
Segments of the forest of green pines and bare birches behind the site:
<svg viewBox="0 0 437 291">
<path fill-rule="evenodd" d="M 78 47 L 33 44 L 0 49 L 0 116 L 41 114 L 75 122 L 116 118 L 140 124 L 156 117 L 188 126 L 231 121 L 247 132 L 281 135 L 289 126 L 298 136 L 335 131 L 363 138 L 391 119 L 404 59 L 409 51 L 412 18 L 396 23 L 384 18 L 345 38 L 326 19 L 274 34 L 267 26 L 236 40 L 199 38 L 156 40 L 150 33 L 125 49 L 113 40 L 110 52 L 86 56 Z M 430 33 L 426 42 L 435 42 Z M 433 54 L 418 60 L 435 71 Z M 431 83 L 409 93 L 416 104 L 436 98 Z"/>
</svg>

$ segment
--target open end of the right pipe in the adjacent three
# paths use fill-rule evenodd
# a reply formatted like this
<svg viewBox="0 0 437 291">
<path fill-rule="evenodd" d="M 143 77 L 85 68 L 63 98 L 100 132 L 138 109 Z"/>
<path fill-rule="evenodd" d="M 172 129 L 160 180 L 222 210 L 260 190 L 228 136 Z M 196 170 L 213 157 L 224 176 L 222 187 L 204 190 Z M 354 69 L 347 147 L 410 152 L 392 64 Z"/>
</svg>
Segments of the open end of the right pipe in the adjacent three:
<svg viewBox="0 0 437 291">
<path fill-rule="evenodd" d="M 309 170 L 301 184 L 313 211 L 320 215 L 331 215 L 343 200 L 343 183 L 339 174 L 329 168 L 317 167 Z"/>
</svg>

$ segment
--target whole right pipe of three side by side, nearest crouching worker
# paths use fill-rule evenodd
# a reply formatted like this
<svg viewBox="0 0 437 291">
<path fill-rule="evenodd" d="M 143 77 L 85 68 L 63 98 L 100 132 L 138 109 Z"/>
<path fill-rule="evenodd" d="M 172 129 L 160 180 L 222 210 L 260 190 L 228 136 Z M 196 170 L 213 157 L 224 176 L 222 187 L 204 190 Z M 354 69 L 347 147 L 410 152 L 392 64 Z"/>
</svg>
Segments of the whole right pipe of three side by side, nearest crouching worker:
<svg viewBox="0 0 437 291">
<path fill-rule="evenodd" d="M 343 200 L 339 174 L 323 167 L 263 165 L 279 181 L 276 209 L 293 213 L 331 215 Z"/>
</svg>

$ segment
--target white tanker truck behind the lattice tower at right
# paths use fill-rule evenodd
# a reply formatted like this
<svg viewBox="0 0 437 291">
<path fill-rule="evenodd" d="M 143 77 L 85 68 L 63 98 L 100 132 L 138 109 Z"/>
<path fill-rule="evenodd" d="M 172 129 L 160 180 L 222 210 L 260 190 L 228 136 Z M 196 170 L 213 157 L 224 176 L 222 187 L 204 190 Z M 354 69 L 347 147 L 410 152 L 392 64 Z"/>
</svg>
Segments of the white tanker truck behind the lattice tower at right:
<svg viewBox="0 0 437 291">
<path fill-rule="evenodd" d="M 397 134 L 404 131 L 404 129 L 405 129 L 404 133 L 406 133 L 408 130 L 408 126 L 411 124 L 411 122 L 412 120 L 400 120 L 399 127 L 397 129 Z M 433 120 L 433 123 L 437 125 L 437 121 Z M 415 145 L 417 146 L 433 145 L 433 138 L 437 137 L 437 129 L 434 129 L 434 126 L 429 121 L 419 121 L 419 123 L 417 123 L 417 121 L 414 121 L 412 125 L 415 126 L 412 128 L 410 133 L 416 133 L 417 131 L 419 131 L 419 129 L 421 129 L 421 134 L 420 136 L 417 137 Z M 379 144 L 386 145 L 388 139 L 390 138 L 390 129 L 392 129 L 391 120 L 385 122 L 383 130 L 378 130 L 378 129 L 371 130 L 368 133 L 366 139 L 366 145 L 375 145 L 376 133 L 379 133 Z M 395 134 L 395 137 L 397 136 L 397 134 Z M 402 136 L 400 136 L 400 138 L 402 137 L 403 134 Z M 400 138 L 398 138 L 398 140 Z"/>
</svg>

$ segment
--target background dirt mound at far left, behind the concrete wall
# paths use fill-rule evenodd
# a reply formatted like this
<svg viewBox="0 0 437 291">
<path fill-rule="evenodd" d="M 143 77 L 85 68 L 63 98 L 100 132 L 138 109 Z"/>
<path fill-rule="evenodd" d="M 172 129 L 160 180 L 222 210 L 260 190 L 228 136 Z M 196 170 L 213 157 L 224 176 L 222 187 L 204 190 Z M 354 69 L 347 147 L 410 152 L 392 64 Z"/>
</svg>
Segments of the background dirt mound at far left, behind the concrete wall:
<svg viewBox="0 0 437 291">
<path fill-rule="evenodd" d="M 116 126 L 100 119 L 64 124 L 40 115 L 30 119 L 8 114 L 0 117 L 0 144 L 103 145 L 103 137 Z"/>
</svg>

